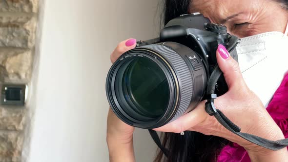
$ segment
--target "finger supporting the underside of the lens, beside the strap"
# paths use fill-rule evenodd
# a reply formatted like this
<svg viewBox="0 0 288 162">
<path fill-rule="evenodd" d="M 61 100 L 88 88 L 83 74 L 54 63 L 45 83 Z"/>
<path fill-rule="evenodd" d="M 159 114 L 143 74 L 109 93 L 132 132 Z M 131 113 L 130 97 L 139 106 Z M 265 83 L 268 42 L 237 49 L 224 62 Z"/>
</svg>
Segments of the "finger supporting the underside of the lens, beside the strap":
<svg viewBox="0 0 288 162">
<path fill-rule="evenodd" d="M 179 119 L 172 121 L 162 127 L 156 128 L 154 130 L 160 132 L 173 132 L 181 133 L 207 118 L 207 113 L 205 111 L 205 101 L 199 103 L 199 105 L 191 112 L 183 115 Z"/>
</svg>

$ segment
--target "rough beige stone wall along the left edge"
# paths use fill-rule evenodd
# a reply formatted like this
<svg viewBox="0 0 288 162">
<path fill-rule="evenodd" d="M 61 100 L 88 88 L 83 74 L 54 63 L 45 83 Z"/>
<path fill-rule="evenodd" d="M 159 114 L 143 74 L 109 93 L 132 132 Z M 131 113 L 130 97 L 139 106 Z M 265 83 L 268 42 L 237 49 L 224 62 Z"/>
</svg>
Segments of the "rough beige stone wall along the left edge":
<svg viewBox="0 0 288 162">
<path fill-rule="evenodd" d="M 0 84 L 31 81 L 38 0 L 0 0 Z M 0 162 L 20 162 L 29 107 L 0 106 Z"/>
</svg>

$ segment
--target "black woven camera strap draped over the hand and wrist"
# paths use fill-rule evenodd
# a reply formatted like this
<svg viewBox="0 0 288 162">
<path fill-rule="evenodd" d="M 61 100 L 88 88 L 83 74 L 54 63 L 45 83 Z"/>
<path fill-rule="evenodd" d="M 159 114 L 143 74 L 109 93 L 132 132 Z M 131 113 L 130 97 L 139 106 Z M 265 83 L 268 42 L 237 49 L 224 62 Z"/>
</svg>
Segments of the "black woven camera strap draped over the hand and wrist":
<svg viewBox="0 0 288 162">
<path fill-rule="evenodd" d="M 239 43 L 239 38 L 236 36 L 231 36 L 227 50 L 229 51 L 230 55 L 233 55 L 237 57 L 237 55 L 234 55 L 236 52 L 236 46 Z M 238 60 L 237 58 L 234 58 L 235 60 Z M 217 95 L 215 93 L 215 86 L 217 84 L 218 79 L 223 74 L 219 66 L 217 65 L 213 72 L 211 73 L 211 76 L 207 83 L 207 102 L 205 103 L 205 110 L 210 116 L 214 116 L 217 121 L 222 124 L 227 130 L 230 132 L 238 135 L 239 137 L 252 142 L 254 144 L 257 144 L 259 146 L 265 147 L 270 150 L 280 150 L 284 147 L 288 146 L 288 139 L 278 140 L 278 141 L 270 141 L 252 134 L 243 133 L 241 132 L 241 128 L 234 124 L 232 121 L 230 121 L 219 109 L 216 109 L 214 105 L 214 100 L 217 98 Z M 164 155 L 168 157 L 169 151 L 166 149 L 162 144 L 161 140 L 157 134 L 156 131 L 149 129 L 149 133 L 153 139 L 153 141 L 157 144 L 157 146 L 162 150 Z"/>
</svg>

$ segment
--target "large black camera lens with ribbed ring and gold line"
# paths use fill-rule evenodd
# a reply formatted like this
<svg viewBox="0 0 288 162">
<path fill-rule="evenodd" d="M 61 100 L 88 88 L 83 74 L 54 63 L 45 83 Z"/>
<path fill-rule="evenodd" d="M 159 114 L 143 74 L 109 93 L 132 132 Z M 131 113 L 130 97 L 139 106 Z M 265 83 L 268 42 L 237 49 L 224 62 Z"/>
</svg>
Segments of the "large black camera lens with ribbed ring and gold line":
<svg viewBox="0 0 288 162">
<path fill-rule="evenodd" d="M 125 52 L 110 68 L 106 95 L 125 123 L 157 128 L 193 110 L 207 82 L 205 63 L 176 42 L 162 42 Z"/>
</svg>

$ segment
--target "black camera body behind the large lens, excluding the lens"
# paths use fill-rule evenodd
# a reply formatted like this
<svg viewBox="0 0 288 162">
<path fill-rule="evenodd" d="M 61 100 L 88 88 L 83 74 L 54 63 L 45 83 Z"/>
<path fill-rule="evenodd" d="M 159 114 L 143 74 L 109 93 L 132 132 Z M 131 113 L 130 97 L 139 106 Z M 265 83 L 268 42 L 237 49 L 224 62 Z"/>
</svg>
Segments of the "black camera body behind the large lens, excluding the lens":
<svg viewBox="0 0 288 162">
<path fill-rule="evenodd" d="M 192 64 L 192 69 L 196 69 L 196 71 L 198 70 L 197 67 L 201 67 L 200 64 L 203 62 L 207 72 L 205 80 L 207 80 L 217 64 L 216 51 L 218 45 L 222 44 L 227 48 L 230 38 L 231 35 L 227 33 L 226 26 L 211 23 L 203 14 L 192 13 L 170 20 L 161 30 L 159 38 L 138 41 L 136 47 L 169 41 L 183 44 L 191 48 L 198 55 L 195 56 L 193 53 L 185 54 L 182 52 L 179 52 L 179 54 L 182 54 L 182 57 L 189 58 L 188 61 Z M 167 43 L 165 44 L 167 45 Z M 236 50 L 231 51 L 230 55 L 238 62 Z M 222 75 L 216 84 L 215 93 L 221 96 L 227 90 L 228 87 Z M 206 96 L 204 96 L 204 99 L 206 99 Z"/>
</svg>

